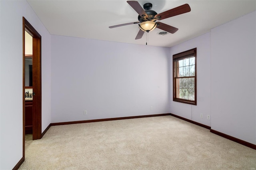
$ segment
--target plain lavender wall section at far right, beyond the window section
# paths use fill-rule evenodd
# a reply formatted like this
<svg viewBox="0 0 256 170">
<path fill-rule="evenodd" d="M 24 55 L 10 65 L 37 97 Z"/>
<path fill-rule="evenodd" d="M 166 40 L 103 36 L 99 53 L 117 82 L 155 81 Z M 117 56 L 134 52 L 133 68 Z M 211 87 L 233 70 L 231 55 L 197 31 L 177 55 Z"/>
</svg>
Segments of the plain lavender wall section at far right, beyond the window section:
<svg viewBox="0 0 256 170">
<path fill-rule="evenodd" d="M 211 31 L 212 129 L 256 144 L 256 13 Z"/>
</svg>

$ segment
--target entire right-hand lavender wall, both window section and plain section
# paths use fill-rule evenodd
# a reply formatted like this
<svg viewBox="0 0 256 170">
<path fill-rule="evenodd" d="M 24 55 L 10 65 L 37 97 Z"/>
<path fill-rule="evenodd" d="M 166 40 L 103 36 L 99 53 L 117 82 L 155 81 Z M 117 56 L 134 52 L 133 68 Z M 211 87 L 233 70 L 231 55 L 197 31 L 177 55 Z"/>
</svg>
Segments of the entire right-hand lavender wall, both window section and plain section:
<svg viewBox="0 0 256 170">
<path fill-rule="evenodd" d="M 198 97 L 197 106 L 171 101 L 170 112 L 252 144 L 256 144 L 255 13 L 170 48 L 172 56 L 197 47 Z"/>
</svg>

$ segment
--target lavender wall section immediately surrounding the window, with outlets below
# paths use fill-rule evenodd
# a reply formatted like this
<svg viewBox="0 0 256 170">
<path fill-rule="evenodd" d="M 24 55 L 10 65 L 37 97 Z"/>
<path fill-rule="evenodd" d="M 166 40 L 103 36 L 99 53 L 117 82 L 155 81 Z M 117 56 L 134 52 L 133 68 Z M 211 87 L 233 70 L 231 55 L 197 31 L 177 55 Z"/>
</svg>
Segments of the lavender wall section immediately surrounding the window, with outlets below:
<svg viewBox="0 0 256 170">
<path fill-rule="evenodd" d="M 197 105 L 172 101 L 172 55 L 196 48 Z M 170 113 L 186 119 L 211 126 L 207 119 L 210 113 L 210 33 L 170 48 Z M 200 114 L 203 114 L 203 119 Z"/>
</svg>

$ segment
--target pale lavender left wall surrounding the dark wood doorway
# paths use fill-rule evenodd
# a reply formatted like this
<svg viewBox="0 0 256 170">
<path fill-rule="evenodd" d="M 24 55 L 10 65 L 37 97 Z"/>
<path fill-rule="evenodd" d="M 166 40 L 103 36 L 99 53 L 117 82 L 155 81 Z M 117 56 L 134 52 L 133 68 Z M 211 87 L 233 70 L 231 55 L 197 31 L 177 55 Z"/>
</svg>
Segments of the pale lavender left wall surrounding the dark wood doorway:
<svg viewBox="0 0 256 170">
<path fill-rule="evenodd" d="M 22 158 L 22 16 L 42 36 L 42 131 L 50 124 L 50 34 L 25 0 L 0 1 L 0 169 Z"/>
</svg>

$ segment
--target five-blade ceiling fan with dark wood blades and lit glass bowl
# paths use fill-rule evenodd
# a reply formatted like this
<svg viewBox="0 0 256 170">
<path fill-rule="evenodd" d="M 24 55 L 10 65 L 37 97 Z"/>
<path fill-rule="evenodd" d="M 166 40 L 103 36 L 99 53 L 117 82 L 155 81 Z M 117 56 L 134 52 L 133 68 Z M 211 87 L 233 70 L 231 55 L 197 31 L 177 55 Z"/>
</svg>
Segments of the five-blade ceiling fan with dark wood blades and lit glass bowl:
<svg viewBox="0 0 256 170">
<path fill-rule="evenodd" d="M 138 16 L 139 21 L 138 22 L 130 22 L 130 23 L 126 23 L 126 24 L 120 24 L 120 25 L 116 25 L 116 26 L 110 26 L 109 28 L 116 28 L 116 27 L 120 27 L 120 26 L 131 25 L 131 24 L 138 24 L 140 30 L 139 30 L 135 40 L 142 38 L 144 32 L 150 32 L 150 31 L 154 30 L 155 28 L 159 28 L 161 30 L 164 30 L 166 32 L 170 32 L 170 33 L 174 34 L 176 31 L 178 31 L 178 28 L 169 26 L 162 22 L 156 22 L 156 20 L 163 20 L 165 18 L 184 14 L 186 12 L 191 11 L 190 6 L 188 4 L 184 4 L 182 6 L 178 6 L 171 10 L 157 14 L 155 11 L 151 10 L 151 8 L 152 8 L 151 3 L 144 4 L 143 5 L 144 9 L 140 6 L 138 1 L 128 0 L 127 3 L 139 14 L 139 16 Z"/>
</svg>

